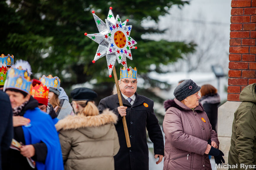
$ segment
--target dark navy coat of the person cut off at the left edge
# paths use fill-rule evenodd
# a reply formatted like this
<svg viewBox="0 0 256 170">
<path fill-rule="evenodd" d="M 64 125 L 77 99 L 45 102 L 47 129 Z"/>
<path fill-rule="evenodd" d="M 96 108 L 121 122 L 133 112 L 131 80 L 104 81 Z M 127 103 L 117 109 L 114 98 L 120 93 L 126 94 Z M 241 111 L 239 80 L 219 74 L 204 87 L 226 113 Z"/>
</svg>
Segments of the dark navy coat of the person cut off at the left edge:
<svg viewBox="0 0 256 170">
<path fill-rule="evenodd" d="M 12 129 L 12 107 L 9 97 L 6 93 L 0 90 L 0 170 L 1 168 L 1 155 L 2 152 L 8 150 L 12 142 L 13 129 Z"/>
</svg>

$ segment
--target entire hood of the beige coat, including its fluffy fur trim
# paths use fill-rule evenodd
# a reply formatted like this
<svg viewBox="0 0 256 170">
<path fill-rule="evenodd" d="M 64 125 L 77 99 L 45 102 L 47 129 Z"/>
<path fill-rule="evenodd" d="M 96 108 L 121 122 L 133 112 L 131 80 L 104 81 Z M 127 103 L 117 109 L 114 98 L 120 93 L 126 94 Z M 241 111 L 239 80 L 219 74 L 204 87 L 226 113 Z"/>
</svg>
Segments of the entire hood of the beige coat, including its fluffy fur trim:
<svg viewBox="0 0 256 170">
<path fill-rule="evenodd" d="M 116 123 L 117 115 L 106 109 L 97 116 L 69 115 L 58 121 L 55 127 L 57 131 L 78 130 L 90 138 L 99 138 L 109 131 L 111 124 Z"/>
</svg>

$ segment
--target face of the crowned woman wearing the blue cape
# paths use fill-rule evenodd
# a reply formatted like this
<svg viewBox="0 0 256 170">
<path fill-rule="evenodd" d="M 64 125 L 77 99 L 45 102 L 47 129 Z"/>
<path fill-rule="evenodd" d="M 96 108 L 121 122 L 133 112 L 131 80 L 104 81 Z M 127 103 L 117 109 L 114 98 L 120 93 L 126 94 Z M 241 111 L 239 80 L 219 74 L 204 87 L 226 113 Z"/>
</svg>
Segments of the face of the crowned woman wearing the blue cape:
<svg viewBox="0 0 256 170">
<path fill-rule="evenodd" d="M 22 103 L 24 103 L 25 101 L 28 101 L 30 98 L 29 94 L 26 97 L 24 97 L 23 94 L 19 92 L 10 91 L 10 90 L 7 90 L 6 94 L 10 98 L 12 109 L 17 106 L 20 106 Z"/>
</svg>

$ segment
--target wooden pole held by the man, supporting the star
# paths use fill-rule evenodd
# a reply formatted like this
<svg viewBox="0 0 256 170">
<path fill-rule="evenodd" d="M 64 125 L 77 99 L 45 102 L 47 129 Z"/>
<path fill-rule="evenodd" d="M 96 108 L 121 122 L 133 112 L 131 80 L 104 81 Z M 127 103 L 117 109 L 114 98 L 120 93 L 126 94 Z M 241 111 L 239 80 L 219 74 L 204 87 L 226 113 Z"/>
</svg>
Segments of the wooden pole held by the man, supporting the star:
<svg viewBox="0 0 256 170">
<path fill-rule="evenodd" d="M 113 74 L 114 74 L 115 83 L 116 83 L 116 87 L 117 87 L 117 95 L 118 95 L 119 104 L 120 104 L 120 106 L 123 106 L 123 101 L 122 101 L 120 88 L 119 88 L 119 84 L 118 84 L 118 80 L 117 80 L 117 72 L 116 72 L 115 66 L 113 67 Z M 125 116 L 122 117 L 122 120 L 123 120 L 123 126 L 124 126 L 124 131 L 125 131 L 126 144 L 127 144 L 127 147 L 130 148 L 131 142 L 130 142 L 130 138 L 129 138 L 129 132 L 128 132 Z"/>
</svg>

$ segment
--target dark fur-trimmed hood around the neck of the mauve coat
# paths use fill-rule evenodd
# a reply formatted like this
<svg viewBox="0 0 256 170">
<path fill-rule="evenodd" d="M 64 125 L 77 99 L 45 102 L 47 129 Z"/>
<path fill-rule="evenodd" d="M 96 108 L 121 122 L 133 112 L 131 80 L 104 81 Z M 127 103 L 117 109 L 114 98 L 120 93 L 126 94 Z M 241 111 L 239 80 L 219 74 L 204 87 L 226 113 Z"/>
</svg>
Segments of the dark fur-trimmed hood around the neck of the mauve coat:
<svg viewBox="0 0 256 170">
<path fill-rule="evenodd" d="M 163 103 L 164 109 L 165 111 L 167 111 L 167 109 L 169 109 L 170 107 L 175 107 L 179 110 L 191 110 L 189 107 L 187 107 L 185 104 L 181 103 L 180 101 L 178 101 L 176 98 L 174 98 L 174 100 L 166 100 Z M 195 110 L 197 111 L 203 111 L 203 106 L 201 103 L 199 103 L 198 106 L 196 106 Z"/>
</svg>

